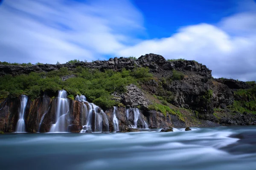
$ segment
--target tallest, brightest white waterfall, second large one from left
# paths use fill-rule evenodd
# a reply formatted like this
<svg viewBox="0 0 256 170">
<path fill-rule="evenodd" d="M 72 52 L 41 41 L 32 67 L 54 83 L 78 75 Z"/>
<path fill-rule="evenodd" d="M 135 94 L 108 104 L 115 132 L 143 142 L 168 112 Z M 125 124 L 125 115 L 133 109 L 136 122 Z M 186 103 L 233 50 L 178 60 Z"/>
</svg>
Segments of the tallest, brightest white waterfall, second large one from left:
<svg viewBox="0 0 256 170">
<path fill-rule="evenodd" d="M 52 125 L 49 132 L 67 132 L 66 116 L 69 113 L 67 91 L 59 91 L 56 108 L 55 124 Z"/>
</svg>

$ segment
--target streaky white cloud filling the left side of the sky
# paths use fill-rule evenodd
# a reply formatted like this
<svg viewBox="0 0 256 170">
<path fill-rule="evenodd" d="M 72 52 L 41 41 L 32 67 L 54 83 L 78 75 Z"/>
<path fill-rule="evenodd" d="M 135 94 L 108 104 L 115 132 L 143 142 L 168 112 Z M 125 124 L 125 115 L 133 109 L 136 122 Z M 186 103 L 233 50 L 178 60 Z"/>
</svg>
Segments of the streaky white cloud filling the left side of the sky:
<svg viewBox="0 0 256 170">
<path fill-rule="evenodd" d="M 0 23 L 0 60 L 32 63 L 114 54 L 131 31 L 144 29 L 142 15 L 126 0 L 4 1 Z"/>
</svg>

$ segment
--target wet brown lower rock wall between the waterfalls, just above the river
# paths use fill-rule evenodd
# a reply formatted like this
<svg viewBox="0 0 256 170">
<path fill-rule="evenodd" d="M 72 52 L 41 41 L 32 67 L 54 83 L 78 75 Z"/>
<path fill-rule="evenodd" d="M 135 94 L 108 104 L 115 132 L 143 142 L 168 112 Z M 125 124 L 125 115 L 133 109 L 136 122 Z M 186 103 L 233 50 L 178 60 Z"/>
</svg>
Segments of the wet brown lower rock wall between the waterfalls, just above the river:
<svg viewBox="0 0 256 170">
<path fill-rule="evenodd" d="M 84 115 L 84 104 L 86 102 L 79 102 L 68 99 L 69 103 L 69 114 L 66 116 L 67 132 L 79 133 L 86 122 L 86 115 Z M 14 132 L 17 125 L 18 113 L 20 108 L 20 99 L 6 99 L 0 105 L 0 131 L 3 132 Z M 49 132 L 53 124 L 55 124 L 55 112 L 57 109 L 57 98 L 50 98 L 44 95 L 33 101 L 28 99 L 26 110 L 25 110 L 25 125 L 26 132 Z M 100 108 L 99 108 L 100 109 Z M 139 111 L 140 116 L 137 120 L 137 128 L 145 128 L 145 124 L 149 128 L 161 128 L 166 126 L 174 125 L 172 123 L 171 115 L 164 116 L 163 113 L 156 111 L 139 110 L 136 108 L 124 108 L 116 107 L 116 118 L 119 121 L 119 129 L 122 132 L 135 132 L 140 131 L 137 128 L 130 128 L 134 126 L 134 111 Z M 102 130 L 113 131 L 113 109 L 105 111 L 107 117 L 102 117 Z M 128 117 L 127 117 L 128 115 Z M 172 115 L 174 116 L 174 115 Z M 93 119 L 96 119 L 93 116 Z M 105 124 L 104 119 L 108 119 L 108 124 Z M 94 122 L 94 121 L 93 121 Z M 184 122 L 183 122 L 184 123 Z M 94 124 L 92 125 L 94 126 Z M 185 127 L 185 125 L 184 125 Z M 130 129 L 129 129 L 130 128 Z M 86 133 L 91 133 L 91 130 L 84 129 Z"/>
</svg>

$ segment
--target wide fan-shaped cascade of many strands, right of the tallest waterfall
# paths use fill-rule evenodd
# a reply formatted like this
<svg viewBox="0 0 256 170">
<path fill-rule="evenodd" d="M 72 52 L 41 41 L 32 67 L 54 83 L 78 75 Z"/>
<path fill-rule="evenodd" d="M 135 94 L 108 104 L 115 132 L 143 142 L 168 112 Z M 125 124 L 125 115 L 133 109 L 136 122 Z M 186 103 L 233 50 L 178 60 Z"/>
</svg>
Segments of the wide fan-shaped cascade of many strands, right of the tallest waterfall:
<svg viewBox="0 0 256 170">
<path fill-rule="evenodd" d="M 80 131 L 81 133 L 85 133 L 86 130 L 92 130 L 93 132 L 102 132 L 103 125 L 105 125 L 106 127 L 104 131 L 109 132 L 108 118 L 97 105 L 87 102 L 84 95 L 76 96 L 76 100 L 84 102 L 84 115 L 82 116 L 81 120 L 83 129 Z"/>
</svg>

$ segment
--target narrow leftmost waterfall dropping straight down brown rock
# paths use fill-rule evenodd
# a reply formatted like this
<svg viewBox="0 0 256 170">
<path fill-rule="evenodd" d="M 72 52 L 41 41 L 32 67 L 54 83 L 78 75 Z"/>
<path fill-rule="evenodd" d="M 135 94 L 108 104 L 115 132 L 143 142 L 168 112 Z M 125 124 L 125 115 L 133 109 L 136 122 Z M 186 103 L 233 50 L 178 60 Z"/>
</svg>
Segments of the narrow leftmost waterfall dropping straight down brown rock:
<svg viewBox="0 0 256 170">
<path fill-rule="evenodd" d="M 18 120 L 18 122 L 17 122 L 17 127 L 16 127 L 16 131 L 15 131 L 15 132 L 17 132 L 17 133 L 26 132 L 24 116 L 25 116 L 25 111 L 26 111 L 26 104 L 27 104 L 27 102 L 28 102 L 28 96 L 26 96 L 26 95 L 21 95 L 21 96 L 20 96 L 19 120 Z"/>
</svg>

